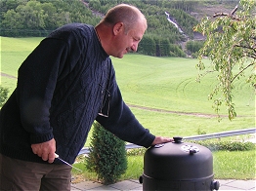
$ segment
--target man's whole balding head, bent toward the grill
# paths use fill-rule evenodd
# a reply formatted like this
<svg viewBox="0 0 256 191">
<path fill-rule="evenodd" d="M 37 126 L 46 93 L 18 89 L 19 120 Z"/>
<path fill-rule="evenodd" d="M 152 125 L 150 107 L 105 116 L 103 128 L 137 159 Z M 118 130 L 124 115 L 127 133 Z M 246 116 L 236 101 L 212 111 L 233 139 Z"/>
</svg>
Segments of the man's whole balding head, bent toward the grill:
<svg viewBox="0 0 256 191">
<path fill-rule="evenodd" d="M 147 19 L 134 6 L 120 4 L 111 8 L 95 30 L 108 56 L 123 57 L 136 52 L 147 29 Z"/>
</svg>

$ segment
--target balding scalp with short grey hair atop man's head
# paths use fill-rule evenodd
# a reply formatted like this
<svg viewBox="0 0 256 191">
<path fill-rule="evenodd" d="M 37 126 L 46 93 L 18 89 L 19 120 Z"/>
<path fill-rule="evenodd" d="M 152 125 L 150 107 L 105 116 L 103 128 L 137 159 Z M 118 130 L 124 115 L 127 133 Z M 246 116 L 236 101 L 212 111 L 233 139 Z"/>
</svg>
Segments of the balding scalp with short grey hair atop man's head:
<svg viewBox="0 0 256 191">
<path fill-rule="evenodd" d="M 120 4 L 108 10 L 106 17 L 101 22 L 110 26 L 117 22 L 123 22 L 126 33 L 138 23 L 144 25 L 145 29 L 148 27 L 147 19 L 141 11 L 127 4 Z"/>
</svg>

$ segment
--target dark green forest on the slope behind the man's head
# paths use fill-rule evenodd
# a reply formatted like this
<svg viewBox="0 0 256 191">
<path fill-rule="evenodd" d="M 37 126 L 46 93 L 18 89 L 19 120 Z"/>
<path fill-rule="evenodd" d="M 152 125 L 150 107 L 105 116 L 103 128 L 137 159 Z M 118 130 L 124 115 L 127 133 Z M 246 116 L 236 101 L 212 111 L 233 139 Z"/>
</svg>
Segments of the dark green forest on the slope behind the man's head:
<svg viewBox="0 0 256 191">
<path fill-rule="evenodd" d="M 235 0 L 231 0 L 235 2 Z M 237 1 L 236 1 L 237 2 Z M 193 26 L 198 19 L 192 13 L 203 0 L 1 0 L 0 36 L 45 37 L 70 22 L 96 25 L 114 5 L 126 3 L 138 7 L 148 19 L 148 30 L 138 53 L 154 57 L 187 57 L 202 43 L 193 43 L 185 52 L 182 43 L 193 39 Z M 222 0 L 214 3 L 220 4 Z M 227 4 L 227 2 L 226 2 Z M 175 24 L 177 23 L 178 29 Z"/>
</svg>

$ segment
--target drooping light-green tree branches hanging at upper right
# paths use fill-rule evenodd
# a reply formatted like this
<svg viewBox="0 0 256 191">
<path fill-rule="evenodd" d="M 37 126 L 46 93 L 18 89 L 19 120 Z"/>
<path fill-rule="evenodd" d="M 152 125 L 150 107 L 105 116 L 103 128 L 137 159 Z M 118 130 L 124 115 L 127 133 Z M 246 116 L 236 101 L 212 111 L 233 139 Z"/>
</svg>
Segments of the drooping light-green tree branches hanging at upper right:
<svg viewBox="0 0 256 191">
<path fill-rule="evenodd" d="M 230 13 L 217 13 L 213 20 L 204 18 L 194 27 L 206 36 L 203 48 L 199 51 L 199 63 L 197 68 L 205 69 L 203 57 L 208 56 L 212 61 L 212 70 L 218 72 L 218 85 L 209 95 L 214 99 L 214 108 L 217 113 L 220 106 L 225 103 L 229 113 L 229 119 L 236 116 L 235 103 L 233 101 L 233 89 L 235 79 L 246 76 L 246 82 L 252 88 L 256 88 L 256 1 L 240 0 L 238 7 Z M 235 69 L 238 72 L 235 73 Z M 252 72 L 247 71 L 251 69 Z M 246 70 L 246 73 L 245 73 Z M 207 72 L 206 72 L 207 73 Z M 198 80 L 204 74 L 199 73 Z M 214 98 L 221 94 L 220 97 Z"/>
</svg>

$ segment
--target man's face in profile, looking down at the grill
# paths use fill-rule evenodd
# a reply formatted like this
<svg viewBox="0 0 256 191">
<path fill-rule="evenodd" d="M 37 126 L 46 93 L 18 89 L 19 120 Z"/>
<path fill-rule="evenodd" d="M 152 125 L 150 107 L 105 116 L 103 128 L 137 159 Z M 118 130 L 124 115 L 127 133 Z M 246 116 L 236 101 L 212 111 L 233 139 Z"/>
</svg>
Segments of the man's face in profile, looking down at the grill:
<svg viewBox="0 0 256 191">
<path fill-rule="evenodd" d="M 125 33 L 123 27 L 122 32 L 115 38 L 115 51 L 112 56 L 122 58 L 126 53 L 136 52 L 144 33 L 145 27 L 143 24 L 136 24 L 136 26 L 127 33 Z"/>
</svg>

